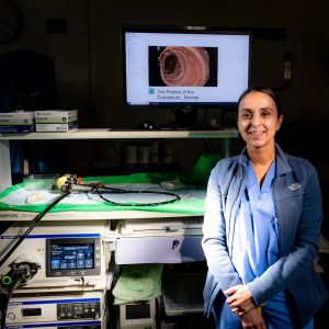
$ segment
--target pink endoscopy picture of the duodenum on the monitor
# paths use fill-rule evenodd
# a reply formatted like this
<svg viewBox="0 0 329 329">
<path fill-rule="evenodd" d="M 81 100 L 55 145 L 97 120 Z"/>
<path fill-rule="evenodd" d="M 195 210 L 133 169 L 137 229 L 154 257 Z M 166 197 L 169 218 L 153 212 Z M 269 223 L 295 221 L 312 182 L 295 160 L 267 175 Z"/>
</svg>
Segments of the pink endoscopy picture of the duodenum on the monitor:
<svg viewBox="0 0 329 329">
<path fill-rule="evenodd" d="M 217 87 L 218 48 L 149 46 L 150 87 Z"/>
</svg>

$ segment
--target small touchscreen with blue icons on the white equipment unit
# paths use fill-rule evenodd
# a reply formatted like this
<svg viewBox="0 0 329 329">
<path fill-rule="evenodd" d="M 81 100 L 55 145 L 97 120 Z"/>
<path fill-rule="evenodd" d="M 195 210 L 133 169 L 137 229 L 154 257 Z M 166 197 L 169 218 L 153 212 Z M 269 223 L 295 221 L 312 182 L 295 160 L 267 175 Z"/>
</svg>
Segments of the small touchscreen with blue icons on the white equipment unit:
<svg viewBox="0 0 329 329">
<path fill-rule="evenodd" d="M 99 272 L 100 248 L 97 239 L 67 238 L 47 240 L 47 274 L 91 275 Z"/>
</svg>

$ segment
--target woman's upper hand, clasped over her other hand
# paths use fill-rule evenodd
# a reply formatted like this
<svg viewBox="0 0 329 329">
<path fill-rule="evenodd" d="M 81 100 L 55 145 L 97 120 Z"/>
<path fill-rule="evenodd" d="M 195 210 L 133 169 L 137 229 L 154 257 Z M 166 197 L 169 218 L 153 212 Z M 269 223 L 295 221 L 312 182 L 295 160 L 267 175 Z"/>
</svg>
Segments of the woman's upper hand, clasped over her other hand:
<svg viewBox="0 0 329 329">
<path fill-rule="evenodd" d="M 231 286 L 225 291 L 224 294 L 228 296 L 226 304 L 229 306 L 231 311 L 239 317 L 251 309 L 257 308 L 253 297 L 246 285 L 239 284 Z"/>
</svg>

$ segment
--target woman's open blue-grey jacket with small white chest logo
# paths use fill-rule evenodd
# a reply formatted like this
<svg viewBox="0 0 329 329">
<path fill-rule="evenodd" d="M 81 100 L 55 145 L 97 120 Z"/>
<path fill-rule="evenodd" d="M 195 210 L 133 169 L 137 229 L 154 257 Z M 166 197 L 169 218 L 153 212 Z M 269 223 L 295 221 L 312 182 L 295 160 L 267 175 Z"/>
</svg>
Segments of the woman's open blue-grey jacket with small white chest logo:
<svg viewBox="0 0 329 329">
<path fill-rule="evenodd" d="M 218 293 L 242 284 L 231 261 L 235 220 L 247 183 L 247 152 L 226 158 L 213 169 L 207 186 L 202 247 L 208 273 L 204 286 L 205 313 Z M 247 286 L 256 303 L 263 304 L 286 290 L 305 326 L 328 297 L 315 271 L 322 222 L 318 174 L 307 160 L 284 154 L 276 145 L 276 178 L 273 196 L 279 217 L 280 254 L 261 276 Z"/>
</svg>

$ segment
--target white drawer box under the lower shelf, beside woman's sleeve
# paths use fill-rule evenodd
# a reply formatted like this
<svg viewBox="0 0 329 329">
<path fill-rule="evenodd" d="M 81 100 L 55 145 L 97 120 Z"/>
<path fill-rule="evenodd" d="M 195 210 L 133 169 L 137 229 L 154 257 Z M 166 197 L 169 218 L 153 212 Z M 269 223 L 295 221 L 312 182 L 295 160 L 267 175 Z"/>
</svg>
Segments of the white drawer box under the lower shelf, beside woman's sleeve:
<svg viewBox="0 0 329 329">
<path fill-rule="evenodd" d="M 203 261 L 202 223 L 202 217 L 120 220 L 115 239 L 115 263 Z"/>
</svg>

